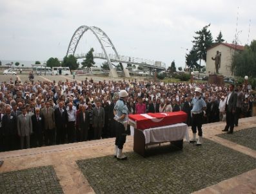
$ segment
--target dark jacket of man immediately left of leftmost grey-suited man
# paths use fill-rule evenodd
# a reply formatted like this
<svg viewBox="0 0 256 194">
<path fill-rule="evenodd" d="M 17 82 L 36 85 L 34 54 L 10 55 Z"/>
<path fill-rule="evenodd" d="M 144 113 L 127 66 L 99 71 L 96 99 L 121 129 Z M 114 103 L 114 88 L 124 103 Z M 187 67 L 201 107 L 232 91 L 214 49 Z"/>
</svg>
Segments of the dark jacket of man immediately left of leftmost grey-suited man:
<svg viewBox="0 0 256 194">
<path fill-rule="evenodd" d="M 2 128 L 3 134 L 5 136 L 15 135 L 17 134 L 17 117 L 15 114 L 10 114 L 10 119 L 8 119 L 7 114 L 5 114 L 2 118 Z"/>
</svg>

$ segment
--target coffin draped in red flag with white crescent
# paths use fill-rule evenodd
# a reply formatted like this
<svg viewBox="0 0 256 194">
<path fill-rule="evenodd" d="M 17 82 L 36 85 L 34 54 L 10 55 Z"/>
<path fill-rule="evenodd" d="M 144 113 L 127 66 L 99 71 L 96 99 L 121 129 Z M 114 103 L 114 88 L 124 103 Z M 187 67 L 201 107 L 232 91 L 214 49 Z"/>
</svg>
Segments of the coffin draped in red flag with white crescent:
<svg viewBox="0 0 256 194">
<path fill-rule="evenodd" d="M 162 112 L 147 114 L 129 114 L 129 123 L 135 128 L 144 130 L 146 128 L 161 127 L 176 123 L 186 122 L 186 112 Z"/>
</svg>

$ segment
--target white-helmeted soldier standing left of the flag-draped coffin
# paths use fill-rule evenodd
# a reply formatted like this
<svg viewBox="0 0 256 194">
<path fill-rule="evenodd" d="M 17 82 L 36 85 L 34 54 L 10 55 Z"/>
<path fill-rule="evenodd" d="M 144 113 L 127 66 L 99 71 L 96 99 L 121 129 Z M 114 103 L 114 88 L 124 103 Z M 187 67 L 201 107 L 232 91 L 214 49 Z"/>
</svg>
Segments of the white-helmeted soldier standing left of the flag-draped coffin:
<svg viewBox="0 0 256 194">
<path fill-rule="evenodd" d="M 126 155 L 123 154 L 123 145 L 126 141 L 126 131 L 128 124 L 128 108 L 126 106 L 128 93 L 125 90 L 119 92 L 119 100 L 115 103 L 113 114 L 115 115 L 116 125 L 116 139 L 115 139 L 115 154 L 117 159 L 127 159 Z"/>
</svg>

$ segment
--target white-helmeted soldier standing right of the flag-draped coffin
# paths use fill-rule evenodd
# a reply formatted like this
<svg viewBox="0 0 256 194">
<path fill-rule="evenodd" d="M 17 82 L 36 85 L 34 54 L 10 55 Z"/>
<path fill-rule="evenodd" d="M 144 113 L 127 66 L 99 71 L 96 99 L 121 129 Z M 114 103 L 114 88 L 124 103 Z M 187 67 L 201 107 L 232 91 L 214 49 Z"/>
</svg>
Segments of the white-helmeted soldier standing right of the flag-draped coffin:
<svg viewBox="0 0 256 194">
<path fill-rule="evenodd" d="M 191 110 L 191 117 L 192 117 L 192 132 L 193 138 L 190 143 L 195 143 L 197 130 L 199 139 L 197 141 L 197 145 L 202 145 L 202 116 L 206 110 L 206 103 L 204 99 L 202 99 L 202 89 L 197 87 L 195 88 L 195 97 L 192 100 L 193 108 Z"/>
</svg>

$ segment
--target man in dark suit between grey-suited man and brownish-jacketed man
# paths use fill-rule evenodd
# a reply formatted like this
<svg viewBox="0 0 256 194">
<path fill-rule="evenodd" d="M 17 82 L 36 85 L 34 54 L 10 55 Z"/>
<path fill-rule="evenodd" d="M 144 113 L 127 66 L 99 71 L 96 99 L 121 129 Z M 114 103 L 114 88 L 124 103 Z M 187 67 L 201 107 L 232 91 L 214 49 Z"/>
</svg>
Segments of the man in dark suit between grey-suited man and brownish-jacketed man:
<svg viewBox="0 0 256 194">
<path fill-rule="evenodd" d="M 32 127 L 34 133 L 34 146 L 42 146 L 43 145 L 43 130 L 44 130 L 44 116 L 40 114 L 40 109 L 38 107 L 35 108 L 35 114 L 31 116 L 32 119 Z"/>
</svg>

